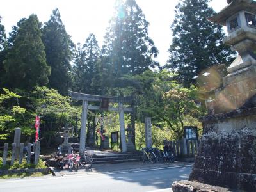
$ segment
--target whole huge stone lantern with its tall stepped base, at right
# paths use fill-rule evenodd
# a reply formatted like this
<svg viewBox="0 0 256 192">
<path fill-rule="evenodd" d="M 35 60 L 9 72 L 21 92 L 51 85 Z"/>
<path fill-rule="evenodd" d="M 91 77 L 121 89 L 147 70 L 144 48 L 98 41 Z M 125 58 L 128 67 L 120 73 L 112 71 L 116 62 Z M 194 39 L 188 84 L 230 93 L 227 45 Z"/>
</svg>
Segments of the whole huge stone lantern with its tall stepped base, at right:
<svg viewBox="0 0 256 192">
<path fill-rule="evenodd" d="M 256 191 L 256 2 L 227 2 L 209 20 L 227 26 L 223 42 L 239 55 L 200 118 L 204 132 L 189 181 L 174 183 L 173 191 L 212 188 L 204 184 Z"/>
</svg>

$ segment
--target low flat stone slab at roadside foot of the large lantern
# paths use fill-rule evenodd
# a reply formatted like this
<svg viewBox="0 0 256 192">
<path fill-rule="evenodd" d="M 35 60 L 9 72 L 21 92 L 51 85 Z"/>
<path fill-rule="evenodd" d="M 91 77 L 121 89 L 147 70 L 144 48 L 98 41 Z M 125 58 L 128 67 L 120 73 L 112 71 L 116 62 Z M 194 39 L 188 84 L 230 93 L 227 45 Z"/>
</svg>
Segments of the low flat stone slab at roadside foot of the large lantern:
<svg viewBox="0 0 256 192">
<path fill-rule="evenodd" d="M 211 186 L 200 182 L 192 182 L 188 180 L 181 180 L 173 182 L 173 192 L 230 192 L 228 188 L 221 188 L 218 186 Z"/>
</svg>

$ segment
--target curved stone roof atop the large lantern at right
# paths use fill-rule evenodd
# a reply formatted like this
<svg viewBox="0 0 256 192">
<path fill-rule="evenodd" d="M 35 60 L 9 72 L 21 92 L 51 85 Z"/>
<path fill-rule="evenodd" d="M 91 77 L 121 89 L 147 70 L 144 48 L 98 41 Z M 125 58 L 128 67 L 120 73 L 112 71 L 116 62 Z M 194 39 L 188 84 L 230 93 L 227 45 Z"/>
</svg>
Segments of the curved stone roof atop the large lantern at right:
<svg viewBox="0 0 256 192">
<path fill-rule="evenodd" d="M 256 2 L 253 0 L 227 0 L 228 5 L 218 14 L 209 17 L 211 22 L 226 26 L 226 21 L 232 15 L 242 10 L 256 14 Z"/>
</svg>

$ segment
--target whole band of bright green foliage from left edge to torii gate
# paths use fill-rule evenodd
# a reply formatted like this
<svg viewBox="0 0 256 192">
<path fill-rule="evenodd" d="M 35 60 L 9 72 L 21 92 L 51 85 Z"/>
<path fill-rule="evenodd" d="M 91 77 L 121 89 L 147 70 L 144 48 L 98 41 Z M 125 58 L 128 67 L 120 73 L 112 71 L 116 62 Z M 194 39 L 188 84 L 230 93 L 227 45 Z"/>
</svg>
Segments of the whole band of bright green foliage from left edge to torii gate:
<svg viewBox="0 0 256 192">
<path fill-rule="evenodd" d="M 15 127 L 22 129 L 28 141 L 35 133 L 35 116 L 41 118 L 40 138 L 43 145 L 52 143 L 52 136 L 61 132 L 65 122 L 76 124 L 79 109 L 71 106 L 70 97 L 60 95 L 56 90 L 36 87 L 31 92 L 4 89 L 0 95 L 0 137 L 6 139 L 13 134 Z M 45 142 L 45 143 L 44 143 Z"/>
</svg>

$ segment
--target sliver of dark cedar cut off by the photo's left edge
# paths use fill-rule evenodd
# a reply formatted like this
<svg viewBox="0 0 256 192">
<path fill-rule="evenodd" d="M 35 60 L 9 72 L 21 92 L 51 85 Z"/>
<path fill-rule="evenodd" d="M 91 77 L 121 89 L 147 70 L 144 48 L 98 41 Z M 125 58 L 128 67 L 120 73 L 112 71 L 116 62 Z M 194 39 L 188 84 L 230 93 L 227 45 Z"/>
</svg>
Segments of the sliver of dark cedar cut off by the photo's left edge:
<svg viewBox="0 0 256 192">
<path fill-rule="evenodd" d="M 1 24 L 2 17 L 0 16 L 0 88 L 3 86 L 4 67 L 3 61 L 6 56 L 6 33 L 4 26 Z"/>
</svg>

